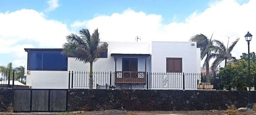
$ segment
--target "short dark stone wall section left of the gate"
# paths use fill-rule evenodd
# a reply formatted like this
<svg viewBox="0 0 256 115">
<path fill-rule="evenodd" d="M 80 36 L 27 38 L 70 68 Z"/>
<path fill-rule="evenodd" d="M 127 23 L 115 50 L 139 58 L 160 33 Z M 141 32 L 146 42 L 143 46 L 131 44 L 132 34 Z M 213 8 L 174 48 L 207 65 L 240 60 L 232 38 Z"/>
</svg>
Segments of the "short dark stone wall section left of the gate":
<svg viewBox="0 0 256 115">
<path fill-rule="evenodd" d="M 13 112 L 13 89 L 0 88 L 0 112 Z"/>
</svg>

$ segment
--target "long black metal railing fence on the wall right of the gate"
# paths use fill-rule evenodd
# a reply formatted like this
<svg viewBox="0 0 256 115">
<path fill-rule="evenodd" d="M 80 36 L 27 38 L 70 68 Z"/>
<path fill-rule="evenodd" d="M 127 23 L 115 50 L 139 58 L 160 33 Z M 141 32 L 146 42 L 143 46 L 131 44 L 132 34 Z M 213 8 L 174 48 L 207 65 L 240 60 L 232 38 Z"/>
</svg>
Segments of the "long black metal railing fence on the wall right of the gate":
<svg viewBox="0 0 256 115">
<path fill-rule="evenodd" d="M 215 74 L 93 72 L 93 88 L 116 89 L 221 89 Z M 69 88 L 89 88 L 90 72 L 69 71 Z"/>
</svg>

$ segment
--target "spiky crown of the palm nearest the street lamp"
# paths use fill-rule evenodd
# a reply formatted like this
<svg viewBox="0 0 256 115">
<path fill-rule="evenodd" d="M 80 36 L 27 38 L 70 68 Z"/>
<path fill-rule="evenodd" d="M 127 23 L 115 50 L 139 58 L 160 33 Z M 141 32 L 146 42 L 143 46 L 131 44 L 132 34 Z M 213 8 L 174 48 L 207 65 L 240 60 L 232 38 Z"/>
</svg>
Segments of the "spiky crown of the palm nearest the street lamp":
<svg viewBox="0 0 256 115">
<path fill-rule="evenodd" d="M 237 38 L 228 48 L 226 48 L 223 44 L 223 42 L 219 40 L 213 40 L 213 42 L 216 44 L 212 49 L 216 54 L 215 60 L 212 63 L 211 68 L 216 68 L 223 60 L 225 60 L 225 66 L 227 64 L 228 60 L 234 61 L 236 60 L 235 57 L 232 57 L 231 51 L 233 50 L 234 46 L 238 42 L 239 38 Z M 227 43 L 228 45 L 228 43 Z"/>
</svg>

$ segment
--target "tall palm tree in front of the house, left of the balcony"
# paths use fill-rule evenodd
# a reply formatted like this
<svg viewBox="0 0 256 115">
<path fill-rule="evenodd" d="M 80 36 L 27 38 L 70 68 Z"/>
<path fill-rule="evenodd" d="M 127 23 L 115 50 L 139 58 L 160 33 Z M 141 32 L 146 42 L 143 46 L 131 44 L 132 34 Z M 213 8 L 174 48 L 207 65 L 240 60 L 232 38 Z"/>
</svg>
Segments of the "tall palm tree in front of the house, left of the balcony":
<svg viewBox="0 0 256 115">
<path fill-rule="evenodd" d="M 90 63 L 89 87 L 92 89 L 93 62 L 99 58 L 102 52 L 107 50 L 108 44 L 106 42 L 100 42 L 98 29 L 94 31 L 92 36 L 88 29 L 81 29 L 79 33 L 80 36 L 74 33 L 66 36 L 67 42 L 63 45 L 64 54 L 84 63 Z"/>
</svg>

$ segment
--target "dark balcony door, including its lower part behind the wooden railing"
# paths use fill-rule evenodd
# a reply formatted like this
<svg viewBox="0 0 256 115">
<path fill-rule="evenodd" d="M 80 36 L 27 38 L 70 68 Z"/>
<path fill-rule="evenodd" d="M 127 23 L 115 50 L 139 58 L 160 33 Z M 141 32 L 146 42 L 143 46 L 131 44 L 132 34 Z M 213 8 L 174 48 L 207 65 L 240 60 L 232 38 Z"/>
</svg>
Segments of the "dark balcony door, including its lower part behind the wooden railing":
<svg viewBox="0 0 256 115">
<path fill-rule="evenodd" d="M 138 58 L 123 58 L 122 71 L 124 77 L 138 77 Z"/>
</svg>

